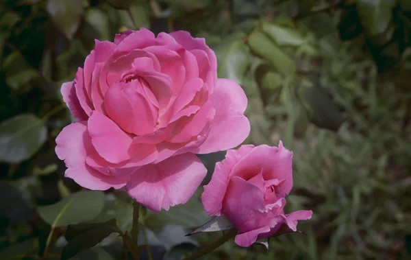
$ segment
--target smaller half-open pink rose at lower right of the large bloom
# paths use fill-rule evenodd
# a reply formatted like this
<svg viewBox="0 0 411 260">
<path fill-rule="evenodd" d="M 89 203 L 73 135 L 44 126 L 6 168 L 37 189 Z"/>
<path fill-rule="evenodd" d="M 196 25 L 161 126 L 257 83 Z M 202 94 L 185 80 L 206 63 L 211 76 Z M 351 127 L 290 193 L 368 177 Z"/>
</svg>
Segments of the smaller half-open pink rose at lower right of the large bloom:
<svg viewBox="0 0 411 260">
<path fill-rule="evenodd" d="M 250 246 L 256 239 L 297 231 L 298 220 L 309 220 L 312 211 L 284 214 L 292 189 L 292 152 L 279 142 L 242 145 L 228 150 L 216 163 L 212 179 L 201 196 L 210 215 L 225 215 L 238 229 L 236 244 Z"/>
</svg>

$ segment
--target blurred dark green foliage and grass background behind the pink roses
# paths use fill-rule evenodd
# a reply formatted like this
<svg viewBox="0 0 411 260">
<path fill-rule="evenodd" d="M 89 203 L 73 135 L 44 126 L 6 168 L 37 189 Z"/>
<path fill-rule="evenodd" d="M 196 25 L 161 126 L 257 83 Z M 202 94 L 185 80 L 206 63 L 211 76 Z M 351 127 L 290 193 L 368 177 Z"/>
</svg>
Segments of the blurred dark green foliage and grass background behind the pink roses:
<svg viewBox="0 0 411 260">
<path fill-rule="evenodd" d="M 60 259 L 65 226 L 51 228 L 37 210 L 81 190 L 54 153 L 73 120 L 60 86 L 95 38 L 140 27 L 206 38 L 219 78 L 249 98 L 245 143 L 281 139 L 294 152 L 286 212 L 314 211 L 299 224 L 305 235 L 273 238 L 269 250 L 227 243 L 203 259 L 411 259 L 410 0 L 1 0 L 0 259 Z M 204 183 L 223 157 L 201 156 Z M 182 259 L 221 235 L 184 237 L 209 220 L 200 194 L 147 213 L 142 259 Z M 127 196 L 110 190 L 101 200 L 93 221 L 116 217 L 127 230 Z M 110 235 L 73 259 L 121 257 Z"/>
</svg>

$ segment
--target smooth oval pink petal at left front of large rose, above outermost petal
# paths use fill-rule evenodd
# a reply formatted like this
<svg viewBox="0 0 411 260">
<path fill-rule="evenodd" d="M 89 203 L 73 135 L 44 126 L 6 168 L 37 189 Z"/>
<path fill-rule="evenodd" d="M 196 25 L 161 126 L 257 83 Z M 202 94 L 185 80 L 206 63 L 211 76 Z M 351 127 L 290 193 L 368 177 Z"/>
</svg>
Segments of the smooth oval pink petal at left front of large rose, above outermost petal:
<svg viewBox="0 0 411 260">
<path fill-rule="evenodd" d="M 92 145 L 106 161 L 121 163 L 130 158 L 132 138 L 105 115 L 94 111 L 88 119 L 88 132 Z"/>
</svg>

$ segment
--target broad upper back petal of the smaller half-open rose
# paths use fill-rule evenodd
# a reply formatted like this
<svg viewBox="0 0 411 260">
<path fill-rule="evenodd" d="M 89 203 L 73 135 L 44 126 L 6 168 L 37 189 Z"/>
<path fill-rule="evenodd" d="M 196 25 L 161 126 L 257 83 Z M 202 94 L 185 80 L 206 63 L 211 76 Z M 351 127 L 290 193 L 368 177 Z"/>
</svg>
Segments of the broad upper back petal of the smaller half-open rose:
<svg viewBox="0 0 411 260">
<path fill-rule="evenodd" d="M 263 169 L 264 180 L 279 180 L 275 187 L 277 196 L 285 197 L 292 188 L 292 152 L 279 143 L 279 147 L 258 145 L 233 168 L 232 174 L 246 180 L 252 173 Z M 249 175 L 251 173 L 251 175 Z"/>
</svg>

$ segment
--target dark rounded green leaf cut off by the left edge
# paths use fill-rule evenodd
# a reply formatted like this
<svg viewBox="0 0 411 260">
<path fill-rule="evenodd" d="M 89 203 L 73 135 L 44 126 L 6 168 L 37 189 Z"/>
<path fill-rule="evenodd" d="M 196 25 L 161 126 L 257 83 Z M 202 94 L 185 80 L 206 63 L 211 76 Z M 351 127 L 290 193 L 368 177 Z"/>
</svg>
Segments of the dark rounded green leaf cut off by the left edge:
<svg viewBox="0 0 411 260">
<path fill-rule="evenodd" d="M 21 114 L 0 123 L 0 161 L 20 163 L 45 143 L 47 128 L 32 114 Z"/>
</svg>

